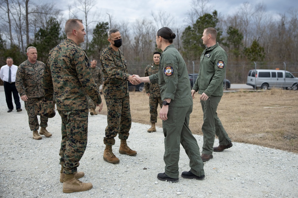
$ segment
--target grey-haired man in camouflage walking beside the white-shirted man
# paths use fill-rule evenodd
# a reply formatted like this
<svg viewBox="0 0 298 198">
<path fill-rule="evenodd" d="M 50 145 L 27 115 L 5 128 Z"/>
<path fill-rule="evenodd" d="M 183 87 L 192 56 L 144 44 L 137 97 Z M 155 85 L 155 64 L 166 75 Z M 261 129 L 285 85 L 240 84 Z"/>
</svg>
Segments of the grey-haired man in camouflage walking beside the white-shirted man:
<svg viewBox="0 0 298 198">
<path fill-rule="evenodd" d="M 41 88 L 44 63 L 37 60 L 37 50 L 35 47 L 27 48 L 27 56 L 28 59 L 18 66 L 15 87 L 21 96 L 21 100 L 25 102 L 25 109 L 29 117 L 29 127 L 33 131 L 33 139 L 40 140 L 42 137 L 39 134 L 46 137 L 52 136 L 46 130 L 49 118 L 40 116 L 40 124 L 38 124 L 37 115 L 34 113 L 35 103 L 44 98 Z M 41 126 L 41 129 L 38 134 L 37 130 L 39 126 Z"/>
</svg>

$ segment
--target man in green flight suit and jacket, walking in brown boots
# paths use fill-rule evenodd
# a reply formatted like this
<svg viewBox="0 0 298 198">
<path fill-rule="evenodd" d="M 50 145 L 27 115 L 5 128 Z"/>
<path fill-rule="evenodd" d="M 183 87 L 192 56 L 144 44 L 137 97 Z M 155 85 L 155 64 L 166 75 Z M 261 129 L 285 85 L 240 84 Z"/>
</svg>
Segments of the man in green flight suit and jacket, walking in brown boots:
<svg viewBox="0 0 298 198">
<path fill-rule="evenodd" d="M 216 42 L 216 36 L 215 28 L 204 29 L 202 40 L 207 48 L 201 55 L 200 70 L 191 90 L 193 98 L 195 98 L 195 92 L 198 91 L 201 94 L 200 101 L 204 112 L 202 126 L 204 143 L 201 155 L 203 161 L 212 159 L 213 151 L 221 152 L 233 146 L 216 113 L 224 93 L 223 81 L 228 59 L 224 49 Z M 218 137 L 219 146 L 213 148 L 215 134 Z"/>
</svg>

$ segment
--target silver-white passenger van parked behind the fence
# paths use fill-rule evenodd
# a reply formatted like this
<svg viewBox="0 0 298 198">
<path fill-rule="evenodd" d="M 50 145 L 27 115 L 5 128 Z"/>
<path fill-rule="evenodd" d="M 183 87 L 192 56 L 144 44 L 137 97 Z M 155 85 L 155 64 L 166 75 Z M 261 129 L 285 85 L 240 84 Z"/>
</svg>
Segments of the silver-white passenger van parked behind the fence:
<svg viewBox="0 0 298 198">
<path fill-rule="evenodd" d="M 248 72 L 247 83 L 254 88 L 268 89 L 269 87 L 281 87 L 286 89 L 298 89 L 298 78 L 291 72 L 279 69 L 253 69 Z"/>
</svg>

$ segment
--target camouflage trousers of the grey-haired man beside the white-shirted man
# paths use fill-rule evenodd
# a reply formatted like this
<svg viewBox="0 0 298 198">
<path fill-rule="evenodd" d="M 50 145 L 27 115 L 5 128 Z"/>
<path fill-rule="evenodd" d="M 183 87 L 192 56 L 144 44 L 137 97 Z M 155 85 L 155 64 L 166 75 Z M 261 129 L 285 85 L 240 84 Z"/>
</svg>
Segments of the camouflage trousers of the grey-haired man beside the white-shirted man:
<svg viewBox="0 0 298 198">
<path fill-rule="evenodd" d="M 48 119 L 47 117 L 40 116 L 40 124 L 38 124 L 37 115 L 35 115 L 34 108 L 35 103 L 43 99 L 44 97 L 40 98 L 28 98 L 27 102 L 25 103 L 25 109 L 28 114 L 29 118 L 29 127 L 31 131 L 37 131 L 39 129 L 39 126 L 41 127 L 47 127 L 48 126 Z"/>
</svg>

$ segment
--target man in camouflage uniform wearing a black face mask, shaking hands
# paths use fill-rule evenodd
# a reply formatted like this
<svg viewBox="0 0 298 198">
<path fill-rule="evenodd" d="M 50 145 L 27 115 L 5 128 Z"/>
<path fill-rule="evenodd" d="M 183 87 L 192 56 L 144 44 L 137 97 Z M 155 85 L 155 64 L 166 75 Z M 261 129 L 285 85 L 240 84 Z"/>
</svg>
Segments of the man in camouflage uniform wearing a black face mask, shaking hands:
<svg viewBox="0 0 298 198">
<path fill-rule="evenodd" d="M 114 137 L 119 134 L 121 140 L 119 153 L 136 155 L 131 150 L 126 140 L 131 128 L 131 113 L 129 105 L 128 81 L 139 84 L 136 77 L 128 74 L 124 55 L 119 47 L 122 44 L 120 32 L 113 28 L 108 31 L 108 41 L 111 43 L 100 56 L 101 68 L 103 70 L 103 95 L 108 108 L 108 126 L 105 128 L 105 151 L 103 159 L 109 163 L 118 163 L 119 159 L 112 152 L 115 144 Z"/>
</svg>

